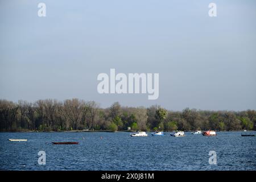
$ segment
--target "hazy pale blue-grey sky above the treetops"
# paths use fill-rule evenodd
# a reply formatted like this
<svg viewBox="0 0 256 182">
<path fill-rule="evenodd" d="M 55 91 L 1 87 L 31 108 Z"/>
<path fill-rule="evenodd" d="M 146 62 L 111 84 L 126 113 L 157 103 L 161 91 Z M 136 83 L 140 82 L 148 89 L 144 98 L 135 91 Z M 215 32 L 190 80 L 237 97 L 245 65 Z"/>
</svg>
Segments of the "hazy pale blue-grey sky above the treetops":
<svg viewBox="0 0 256 182">
<path fill-rule="evenodd" d="M 46 4 L 46 17 L 38 4 Z M 217 16 L 208 15 L 216 3 Z M 0 1 L 0 99 L 256 109 L 255 1 Z M 99 94 L 97 76 L 159 73 L 159 97 Z"/>
</svg>

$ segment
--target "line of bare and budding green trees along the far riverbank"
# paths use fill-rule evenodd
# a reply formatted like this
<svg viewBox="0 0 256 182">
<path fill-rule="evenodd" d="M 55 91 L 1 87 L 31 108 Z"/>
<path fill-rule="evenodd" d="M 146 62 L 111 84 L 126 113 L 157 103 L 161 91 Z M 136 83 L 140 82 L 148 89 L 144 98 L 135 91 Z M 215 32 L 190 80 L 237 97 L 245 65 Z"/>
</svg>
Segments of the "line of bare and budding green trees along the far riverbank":
<svg viewBox="0 0 256 182">
<path fill-rule="evenodd" d="M 0 100 L 0 131 L 71 130 L 193 131 L 255 130 L 256 111 L 209 111 L 186 108 L 169 111 L 159 105 L 103 109 L 95 101 L 77 98 L 17 103 Z"/>
</svg>

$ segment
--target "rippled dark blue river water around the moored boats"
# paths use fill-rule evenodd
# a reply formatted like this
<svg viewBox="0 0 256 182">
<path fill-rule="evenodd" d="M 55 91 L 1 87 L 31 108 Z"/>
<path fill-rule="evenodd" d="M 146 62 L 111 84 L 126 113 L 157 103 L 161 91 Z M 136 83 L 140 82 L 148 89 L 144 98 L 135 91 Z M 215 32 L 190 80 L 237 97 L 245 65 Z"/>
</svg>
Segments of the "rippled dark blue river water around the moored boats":
<svg viewBox="0 0 256 182">
<path fill-rule="evenodd" d="M 7 170 L 256 170 L 256 137 L 130 137 L 130 133 L 0 133 L 0 169 Z M 82 139 L 82 138 L 85 139 Z M 101 139 L 102 137 L 102 139 Z M 10 142 L 9 138 L 28 139 Z M 77 141 L 77 145 L 51 142 Z M 46 152 L 46 165 L 38 152 Z M 209 164 L 216 151 L 217 164 Z"/>
</svg>

